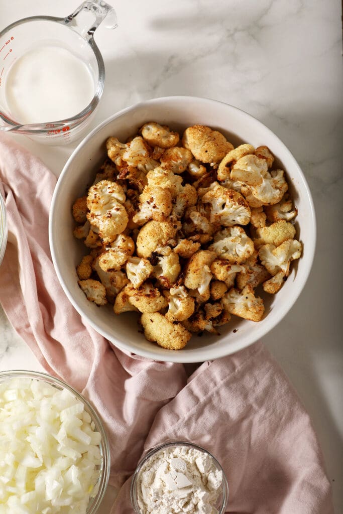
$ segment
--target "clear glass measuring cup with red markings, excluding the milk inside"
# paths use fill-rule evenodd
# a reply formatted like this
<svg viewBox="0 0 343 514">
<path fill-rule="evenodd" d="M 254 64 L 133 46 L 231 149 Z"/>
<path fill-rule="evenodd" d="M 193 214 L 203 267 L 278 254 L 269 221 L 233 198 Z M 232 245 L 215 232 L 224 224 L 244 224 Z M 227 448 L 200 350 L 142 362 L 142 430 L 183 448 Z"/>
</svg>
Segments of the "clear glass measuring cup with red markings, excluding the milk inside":
<svg viewBox="0 0 343 514">
<path fill-rule="evenodd" d="M 116 13 L 102 0 L 86 0 L 65 18 L 30 16 L 12 23 L 0 32 L 0 131 L 26 134 L 46 144 L 68 144 L 80 137 L 100 101 L 104 81 L 104 62 L 93 34 L 107 16 L 107 28 L 117 26 Z M 61 120 L 20 123 L 15 120 L 6 100 L 5 85 L 13 63 L 30 49 L 55 45 L 80 59 L 94 81 L 94 96 L 83 110 Z"/>
</svg>

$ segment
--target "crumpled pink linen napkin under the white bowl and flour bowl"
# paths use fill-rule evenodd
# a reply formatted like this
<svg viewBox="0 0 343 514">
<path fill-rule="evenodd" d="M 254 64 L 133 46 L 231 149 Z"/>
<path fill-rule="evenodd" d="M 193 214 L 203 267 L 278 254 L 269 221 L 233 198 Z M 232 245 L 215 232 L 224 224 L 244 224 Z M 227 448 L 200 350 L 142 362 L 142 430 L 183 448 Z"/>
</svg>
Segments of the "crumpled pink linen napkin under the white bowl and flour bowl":
<svg viewBox="0 0 343 514">
<path fill-rule="evenodd" d="M 211 451 L 229 482 L 227 512 L 331 514 L 331 488 L 308 414 L 261 343 L 184 365 L 126 355 L 86 325 L 52 266 L 48 212 L 56 178 L 36 157 L 0 136 L 0 194 L 8 245 L 0 302 L 45 370 L 81 391 L 104 420 L 112 514 L 132 514 L 130 475 L 148 449 L 189 440 Z"/>
</svg>

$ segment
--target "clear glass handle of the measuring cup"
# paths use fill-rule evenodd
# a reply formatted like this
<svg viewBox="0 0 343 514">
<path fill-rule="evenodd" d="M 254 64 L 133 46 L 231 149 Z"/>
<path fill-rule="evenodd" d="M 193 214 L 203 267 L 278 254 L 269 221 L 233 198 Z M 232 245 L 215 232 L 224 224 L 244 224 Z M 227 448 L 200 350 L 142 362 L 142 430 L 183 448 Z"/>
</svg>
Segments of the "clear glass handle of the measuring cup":
<svg viewBox="0 0 343 514">
<path fill-rule="evenodd" d="M 112 6 L 103 0 L 86 0 L 64 19 L 64 23 L 73 27 L 83 38 L 89 39 L 105 18 L 106 28 L 114 29 L 118 26 L 116 12 Z"/>
</svg>

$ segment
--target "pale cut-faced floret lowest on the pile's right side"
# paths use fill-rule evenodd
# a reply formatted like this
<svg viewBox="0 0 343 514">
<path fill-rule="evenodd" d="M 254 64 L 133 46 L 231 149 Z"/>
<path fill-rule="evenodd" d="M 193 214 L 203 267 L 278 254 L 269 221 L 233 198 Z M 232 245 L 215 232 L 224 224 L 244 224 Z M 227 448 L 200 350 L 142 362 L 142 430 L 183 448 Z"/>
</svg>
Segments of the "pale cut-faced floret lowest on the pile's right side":
<svg viewBox="0 0 343 514">
<path fill-rule="evenodd" d="M 261 321 L 264 313 L 264 305 L 261 298 L 255 297 L 254 289 L 247 285 L 242 291 L 230 289 L 224 298 L 222 305 L 230 314 L 250 321 Z"/>
</svg>

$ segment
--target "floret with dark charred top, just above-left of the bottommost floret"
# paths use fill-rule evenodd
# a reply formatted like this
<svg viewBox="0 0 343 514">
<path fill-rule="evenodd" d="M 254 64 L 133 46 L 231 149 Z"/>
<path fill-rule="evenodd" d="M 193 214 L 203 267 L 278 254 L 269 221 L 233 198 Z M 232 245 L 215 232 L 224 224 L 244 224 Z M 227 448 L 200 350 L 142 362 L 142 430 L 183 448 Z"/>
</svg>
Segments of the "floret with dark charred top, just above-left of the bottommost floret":
<svg viewBox="0 0 343 514">
<path fill-rule="evenodd" d="M 156 313 L 168 305 L 166 298 L 150 282 L 144 282 L 137 288 L 129 283 L 124 291 L 129 296 L 129 302 L 141 313 Z"/>
</svg>

